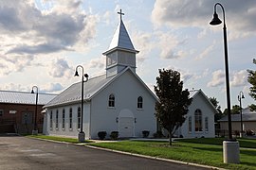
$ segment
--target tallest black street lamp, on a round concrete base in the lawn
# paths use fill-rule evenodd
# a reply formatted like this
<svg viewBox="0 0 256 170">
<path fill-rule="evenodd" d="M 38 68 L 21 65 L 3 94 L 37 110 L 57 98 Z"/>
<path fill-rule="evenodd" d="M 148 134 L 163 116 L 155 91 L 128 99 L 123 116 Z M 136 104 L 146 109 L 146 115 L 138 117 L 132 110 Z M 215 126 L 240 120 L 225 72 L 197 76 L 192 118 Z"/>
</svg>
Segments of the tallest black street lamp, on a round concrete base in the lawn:
<svg viewBox="0 0 256 170">
<path fill-rule="evenodd" d="M 220 25 L 222 21 L 219 19 L 216 12 L 216 7 L 220 6 L 223 11 L 223 33 L 224 33 L 224 52 L 225 52 L 225 68 L 226 68 L 226 88 L 227 88 L 227 105 L 228 105 L 228 121 L 229 121 L 229 141 L 223 142 L 223 157 L 226 163 L 239 163 L 239 143 L 232 140 L 232 125 L 230 114 L 230 92 L 229 92 L 229 60 L 228 60 L 228 42 L 227 42 L 227 27 L 225 21 L 225 10 L 220 3 L 214 5 L 213 19 L 210 21 L 211 26 Z"/>
</svg>

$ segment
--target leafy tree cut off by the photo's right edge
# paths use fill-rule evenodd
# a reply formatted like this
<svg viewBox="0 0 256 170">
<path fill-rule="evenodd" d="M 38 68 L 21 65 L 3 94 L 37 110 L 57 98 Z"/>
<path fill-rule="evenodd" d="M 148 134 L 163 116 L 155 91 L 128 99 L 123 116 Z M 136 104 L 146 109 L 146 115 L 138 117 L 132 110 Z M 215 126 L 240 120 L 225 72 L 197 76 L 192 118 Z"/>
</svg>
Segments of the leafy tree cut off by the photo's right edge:
<svg viewBox="0 0 256 170">
<path fill-rule="evenodd" d="M 256 64 L 256 59 L 253 59 L 253 63 Z M 249 95 L 256 100 L 256 71 L 253 70 L 247 70 L 248 72 L 248 78 L 247 81 L 252 85 L 249 88 Z M 250 106 L 251 110 L 256 110 L 256 105 L 251 105 Z"/>
</svg>

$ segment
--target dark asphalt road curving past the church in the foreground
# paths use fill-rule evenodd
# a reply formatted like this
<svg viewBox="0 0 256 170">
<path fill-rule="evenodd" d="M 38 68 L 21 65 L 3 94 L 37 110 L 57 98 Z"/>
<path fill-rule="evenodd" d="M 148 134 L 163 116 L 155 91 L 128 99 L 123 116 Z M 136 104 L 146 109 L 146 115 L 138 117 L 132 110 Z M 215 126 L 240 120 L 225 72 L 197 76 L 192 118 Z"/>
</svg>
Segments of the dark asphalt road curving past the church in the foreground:
<svg viewBox="0 0 256 170">
<path fill-rule="evenodd" d="M 203 169 L 21 136 L 0 136 L 0 170 Z"/>
</svg>

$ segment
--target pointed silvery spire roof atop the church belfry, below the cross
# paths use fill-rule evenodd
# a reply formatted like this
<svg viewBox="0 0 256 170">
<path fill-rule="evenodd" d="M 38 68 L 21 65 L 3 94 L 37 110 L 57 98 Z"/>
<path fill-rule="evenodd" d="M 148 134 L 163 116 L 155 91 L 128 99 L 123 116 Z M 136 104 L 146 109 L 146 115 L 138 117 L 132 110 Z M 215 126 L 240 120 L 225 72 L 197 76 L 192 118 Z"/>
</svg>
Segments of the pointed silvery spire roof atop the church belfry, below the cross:
<svg viewBox="0 0 256 170">
<path fill-rule="evenodd" d="M 120 20 L 120 22 L 119 22 L 119 26 L 117 27 L 117 29 L 115 31 L 114 37 L 109 45 L 108 50 L 103 54 L 107 54 L 110 51 L 117 49 L 117 48 L 133 51 L 136 53 L 138 52 L 135 49 L 133 42 L 131 41 L 125 26 L 123 25 L 122 20 Z"/>
</svg>

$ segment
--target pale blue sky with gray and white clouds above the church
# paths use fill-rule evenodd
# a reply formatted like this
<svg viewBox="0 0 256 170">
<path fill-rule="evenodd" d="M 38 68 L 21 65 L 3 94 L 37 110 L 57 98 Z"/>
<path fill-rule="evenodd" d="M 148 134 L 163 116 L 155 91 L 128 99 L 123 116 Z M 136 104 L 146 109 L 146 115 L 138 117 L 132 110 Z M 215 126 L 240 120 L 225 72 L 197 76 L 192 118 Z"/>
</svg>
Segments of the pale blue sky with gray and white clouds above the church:
<svg viewBox="0 0 256 170">
<path fill-rule="evenodd" d="M 248 95 L 247 69 L 255 70 L 256 3 L 219 0 L 228 27 L 231 106 L 255 101 Z M 137 75 L 154 89 L 158 69 L 181 74 L 184 88 L 201 89 L 226 108 L 223 24 L 210 26 L 212 0 L 9 0 L 0 1 L 0 90 L 61 93 L 89 77 L 105 74 L 105 57 L 118 11 L 139 51 Z M 223 11 L 217 6 L 219 18 Z"/>
</svg>

